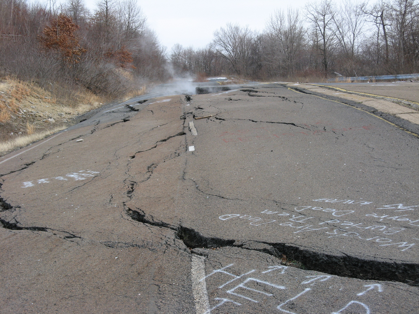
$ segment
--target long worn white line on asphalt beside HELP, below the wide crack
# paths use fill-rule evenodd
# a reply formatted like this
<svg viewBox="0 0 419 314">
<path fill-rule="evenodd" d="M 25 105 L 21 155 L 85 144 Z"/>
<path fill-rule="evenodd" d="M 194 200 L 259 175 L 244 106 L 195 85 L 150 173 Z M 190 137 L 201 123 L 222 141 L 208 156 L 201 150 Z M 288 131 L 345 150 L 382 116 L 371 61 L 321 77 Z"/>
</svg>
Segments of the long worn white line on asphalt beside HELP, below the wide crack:
<svg viewBox="0 0 419 314">
<path fill-rule="evenodd" d="M 199 255 L 192 255 L 191 260 L 192 272 L 192 293 L 195 299 L 195 309 L 197 314 L 204 314 L 209 312 L 209 300 L 207 293 L 207 282 L 205 278 L 205 257 Z"/>
</svg>

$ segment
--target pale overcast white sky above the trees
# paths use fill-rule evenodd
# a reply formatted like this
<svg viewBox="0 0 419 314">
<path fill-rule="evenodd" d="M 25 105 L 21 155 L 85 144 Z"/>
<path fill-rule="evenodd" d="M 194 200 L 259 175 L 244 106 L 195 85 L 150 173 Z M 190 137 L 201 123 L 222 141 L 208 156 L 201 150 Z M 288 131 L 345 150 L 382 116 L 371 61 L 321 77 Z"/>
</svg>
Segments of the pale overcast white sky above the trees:
<svg viewBox="0 0 419 314">
<path fill-rule="evenodd" d="M 179 43 L 200 48 L 212 41 L 212 33 L 226 23 L 262 30 L 274 10 L 301 8 L 307 0 L 139 0 L 148 25 L 168 50 Z M 96 0 L 87 0 L 93 10 Z"/>
</svg>

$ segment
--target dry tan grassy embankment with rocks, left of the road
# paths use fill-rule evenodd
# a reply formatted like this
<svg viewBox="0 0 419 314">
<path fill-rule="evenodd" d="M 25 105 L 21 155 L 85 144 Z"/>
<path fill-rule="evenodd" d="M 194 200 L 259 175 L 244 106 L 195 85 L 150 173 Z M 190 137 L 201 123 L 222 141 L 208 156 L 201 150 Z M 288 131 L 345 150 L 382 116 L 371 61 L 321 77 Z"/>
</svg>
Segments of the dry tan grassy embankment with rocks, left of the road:
<svg viewBox="0 0 419 314">
<path fill-rule="evenodd" d="M 145 93 L 145 86 L 130 90 L 122 101 Z M 0 79 L 0 156 L 66 129 L 78 115 L 110 101 L 88 90 L 57 99 L 34 83 Z"/>
</svg>

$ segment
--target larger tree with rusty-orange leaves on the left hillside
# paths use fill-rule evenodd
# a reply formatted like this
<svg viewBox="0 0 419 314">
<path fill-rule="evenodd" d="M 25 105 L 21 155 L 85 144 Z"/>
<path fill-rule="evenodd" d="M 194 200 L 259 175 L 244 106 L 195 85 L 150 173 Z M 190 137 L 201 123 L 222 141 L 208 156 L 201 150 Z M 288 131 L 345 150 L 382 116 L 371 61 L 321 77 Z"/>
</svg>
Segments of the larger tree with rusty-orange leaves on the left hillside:
<svg viewBox="0 0 419 314">
<path fill-rule="evenodd" d="M 60 14 L 51 21 L 51 26 L 45 26 L 43 35 L 38 39 L 45 48 L 58 51 L 65 63 L 75 64 L 80 62 L 81 54 L 86 51 L 80 47 L 75 35 L 78 28 L 72 18 Z"/>
</svg>

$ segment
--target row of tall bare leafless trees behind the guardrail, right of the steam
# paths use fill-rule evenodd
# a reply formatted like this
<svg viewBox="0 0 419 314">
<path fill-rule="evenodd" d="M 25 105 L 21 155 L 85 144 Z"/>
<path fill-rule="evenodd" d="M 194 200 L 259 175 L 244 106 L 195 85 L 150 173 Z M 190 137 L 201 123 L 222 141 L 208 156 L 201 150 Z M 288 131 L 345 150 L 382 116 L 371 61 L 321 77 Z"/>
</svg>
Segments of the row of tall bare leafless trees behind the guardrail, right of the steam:
<svg viewBox="0 0 419 314">
<path fill-rule="evenodd" d="M 272 13 L 263 31 L 227 24 L 204 49 L 173 46 L 178 72 L 245 78 L 419 72 L 418 0 L 310 2 Z"/>
</svg>

